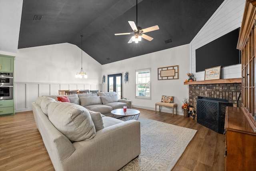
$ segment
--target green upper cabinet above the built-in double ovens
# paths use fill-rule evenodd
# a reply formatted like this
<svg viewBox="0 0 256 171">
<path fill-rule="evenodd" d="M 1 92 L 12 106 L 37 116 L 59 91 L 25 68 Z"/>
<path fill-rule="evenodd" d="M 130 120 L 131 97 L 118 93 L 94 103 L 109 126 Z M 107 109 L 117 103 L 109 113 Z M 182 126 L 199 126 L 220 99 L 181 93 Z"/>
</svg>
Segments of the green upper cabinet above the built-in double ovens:
<svg viewBox="0 0 256 171">
<path fill-rule="evenodd" d="M 0 54 L 0 72 L 14 72 L 15 56 Z"/>
</svg>

